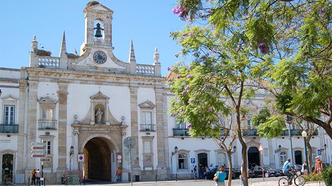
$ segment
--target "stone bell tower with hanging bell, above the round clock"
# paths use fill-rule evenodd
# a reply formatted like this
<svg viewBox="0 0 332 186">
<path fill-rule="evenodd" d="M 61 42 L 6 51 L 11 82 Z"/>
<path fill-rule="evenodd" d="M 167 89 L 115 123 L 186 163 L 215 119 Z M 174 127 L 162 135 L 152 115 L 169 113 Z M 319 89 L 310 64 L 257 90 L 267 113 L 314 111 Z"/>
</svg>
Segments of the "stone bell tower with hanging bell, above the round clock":
<svg viewBox="0 0 332 186">
<path fill-rule="evenodd" d="M 86 48 L 112 47 L 112 15 L 113 11 L 99 2 L 92 1 L 83 10 L 85 13 L 85 40 L 81 50 Z"/>
</svg>

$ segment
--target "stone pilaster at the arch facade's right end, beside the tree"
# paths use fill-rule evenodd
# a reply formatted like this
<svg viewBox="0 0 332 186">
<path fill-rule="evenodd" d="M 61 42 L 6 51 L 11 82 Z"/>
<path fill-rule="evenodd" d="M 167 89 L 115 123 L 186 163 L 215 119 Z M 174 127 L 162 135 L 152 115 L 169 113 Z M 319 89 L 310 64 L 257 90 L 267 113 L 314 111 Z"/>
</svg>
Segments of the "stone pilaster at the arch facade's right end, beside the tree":
<svg viewBox="0 0 332 186">
<path fill-rule="evenodd" d="M 162 89 L 154 88 L 155 94 L 155 112 L 156 112 L 156 132 L 157 132 L 157 174 L 164 175 L 161 179 L 167 178 L 167 168 L 165 165 L 164 150 L 164 128 L 163 128 L 163 103 Z"/>
</svg>

